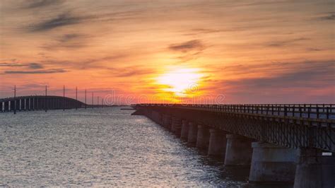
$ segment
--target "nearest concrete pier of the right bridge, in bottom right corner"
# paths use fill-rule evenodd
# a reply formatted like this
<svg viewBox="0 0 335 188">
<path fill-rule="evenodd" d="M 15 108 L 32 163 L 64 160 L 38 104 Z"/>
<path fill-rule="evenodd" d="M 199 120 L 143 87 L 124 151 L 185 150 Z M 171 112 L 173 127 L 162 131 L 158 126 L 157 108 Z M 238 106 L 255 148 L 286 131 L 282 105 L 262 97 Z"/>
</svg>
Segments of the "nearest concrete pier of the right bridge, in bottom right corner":
<svg viewBox="0 0 335 188">
<path fill-rule="evenodd" d="M 324 155 L 317 149 L 298 149 L 294 188 L 334 187 L 335 156 Z"/>
</svg>

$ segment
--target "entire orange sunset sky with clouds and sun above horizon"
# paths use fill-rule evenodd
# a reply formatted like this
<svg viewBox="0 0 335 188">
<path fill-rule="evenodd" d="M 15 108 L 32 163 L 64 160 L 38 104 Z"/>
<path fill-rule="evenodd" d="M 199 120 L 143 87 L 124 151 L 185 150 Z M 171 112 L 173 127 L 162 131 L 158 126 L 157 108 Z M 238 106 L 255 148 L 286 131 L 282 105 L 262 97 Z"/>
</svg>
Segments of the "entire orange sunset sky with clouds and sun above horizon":
<svg viewBox="0 0 335 188">
<path fill-rule="evenodd" d="M 0 98 L 334 103 L 334 1 L 0 1 Z M 90 95 L 90 94 L 89 94 Z M 89 98 L 89 97 L 88 97 Z M 109 99 L 110 100 L 110 99 Z M 90 102 L 90 100 L 88 100 Z"/>
</svg>

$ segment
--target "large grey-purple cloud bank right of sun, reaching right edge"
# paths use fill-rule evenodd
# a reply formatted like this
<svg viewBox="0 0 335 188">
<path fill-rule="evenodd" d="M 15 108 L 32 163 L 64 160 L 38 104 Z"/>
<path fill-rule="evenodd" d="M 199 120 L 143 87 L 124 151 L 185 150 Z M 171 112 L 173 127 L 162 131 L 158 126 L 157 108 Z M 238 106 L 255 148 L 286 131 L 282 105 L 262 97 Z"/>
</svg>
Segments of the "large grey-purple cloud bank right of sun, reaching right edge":
<svg viewBox="0 0 335 188">
<path fill-rule="evenodd" d="M 243 69 L 240 67 L 240 69 Z M 269 71 L 275 66 L 267 67 Z M 278 67 L 277 67 L 278 69 Z M 324 88 L 333 86 L 335 82 L 334 61 L 306 61 L 284 69 L 281 74 L 261 78 L 242 78 L 232 81 L 223 81 L 223 85 L 243 89 L 283 89 L 283 88 Z"/>
</svg>

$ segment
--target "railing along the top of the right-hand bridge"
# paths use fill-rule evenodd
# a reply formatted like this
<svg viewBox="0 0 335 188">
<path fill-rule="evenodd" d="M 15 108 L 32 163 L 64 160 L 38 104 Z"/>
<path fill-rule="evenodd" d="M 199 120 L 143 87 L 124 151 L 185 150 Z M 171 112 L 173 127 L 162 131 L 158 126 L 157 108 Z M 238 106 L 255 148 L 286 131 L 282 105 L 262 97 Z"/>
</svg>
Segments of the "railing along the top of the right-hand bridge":
<svg viewBox="0 0 335 188">
<path fill-rule="evenodd" d="M 335 119 L 334 104 L 269 104 L 269 105 L 194 105 L 194 104 L 139 104 L 169 107 L 192 107 L 199 110 L 266 114 L 283 117 Z"/>
</svg>

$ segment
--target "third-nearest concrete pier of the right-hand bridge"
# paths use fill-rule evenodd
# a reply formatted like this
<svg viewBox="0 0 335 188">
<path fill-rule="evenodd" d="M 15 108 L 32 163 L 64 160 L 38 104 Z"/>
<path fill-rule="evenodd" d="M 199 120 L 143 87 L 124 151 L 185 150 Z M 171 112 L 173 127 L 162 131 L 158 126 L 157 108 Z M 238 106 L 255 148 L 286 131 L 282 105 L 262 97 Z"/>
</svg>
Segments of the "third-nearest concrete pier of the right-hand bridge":
<svg viewBox="0 0 335 188">
<path fill-rule="evenodd" d="M 252 160 L 252 139 L 236 134 L 227 134 L 225 165 L 250 165 Z"/>
</svg>

